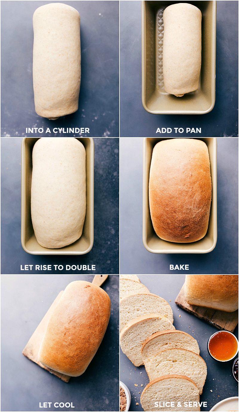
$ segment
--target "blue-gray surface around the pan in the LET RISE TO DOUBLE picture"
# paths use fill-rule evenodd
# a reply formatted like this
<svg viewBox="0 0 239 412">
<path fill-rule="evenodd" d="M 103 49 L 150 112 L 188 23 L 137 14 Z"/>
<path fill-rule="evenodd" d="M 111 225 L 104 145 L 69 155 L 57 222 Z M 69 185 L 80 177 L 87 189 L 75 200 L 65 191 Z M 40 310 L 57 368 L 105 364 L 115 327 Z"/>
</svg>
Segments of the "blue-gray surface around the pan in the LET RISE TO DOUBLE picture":
<svg viewBox="0 0 239 412">
<path fill-rule="evenodd" d="M 30 274 L 37 265 L 96 265 L 119 273 L 119 138 L 94 138 L 94 244 L 86 255 L 30 255 L 21 246 L 21 138 L 1 138 L 1 274 Z M 21 265 L 34 265 L 21 271 Z M 25 267 L 25 266 L 23 266 Z M 81 270 L 81 273 L 83 270 Z M 62 273 L 62 271 L 40 273 Z M 64 272 L 63 272 L 64 273 Z M 67 273 L 76 273 L 69 270 Z M 92 273 L 84 271 L 83 273 Z"/>
</svg>

